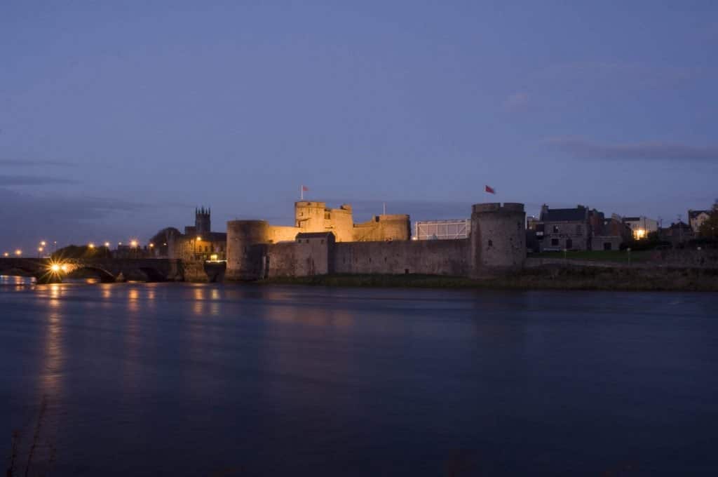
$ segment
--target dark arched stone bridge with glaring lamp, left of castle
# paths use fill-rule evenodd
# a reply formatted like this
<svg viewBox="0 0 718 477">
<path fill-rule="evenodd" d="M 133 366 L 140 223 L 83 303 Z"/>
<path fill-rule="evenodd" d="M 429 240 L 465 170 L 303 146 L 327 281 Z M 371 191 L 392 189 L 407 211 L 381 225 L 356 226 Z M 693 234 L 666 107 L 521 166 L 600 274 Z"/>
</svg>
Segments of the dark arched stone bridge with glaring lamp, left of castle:
<svg viewBox="0 0 718 477">
<path fill-rule="evenodd" d="M 195 268 L 197 268 L 195 266 Z M 218 267 L 203 267 L 207 277 L 190 277 L 199 281 L 221 281 Z M 62 282 L 81 271 L 94 274 L 102 282 L 141 279 L 146 282 L 173 282 L 185 279 L 185 265 L 178 259 L 31 259 L 0 258 L 0 275 L 29 274 L 39 283 Z"/>
</svg>

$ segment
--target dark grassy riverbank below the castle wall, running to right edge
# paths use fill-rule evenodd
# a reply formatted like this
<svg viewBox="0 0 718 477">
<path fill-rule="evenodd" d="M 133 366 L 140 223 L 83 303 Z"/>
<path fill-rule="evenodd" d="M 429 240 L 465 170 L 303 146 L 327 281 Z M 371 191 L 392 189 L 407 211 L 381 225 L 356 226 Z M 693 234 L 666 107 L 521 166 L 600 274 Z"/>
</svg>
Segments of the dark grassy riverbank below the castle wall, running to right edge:
<svg viewBox="0 0 718 477">
<path fill-rule="evenodd" d="M 276 277 L 257 283 L 322 287 L 718 292 L 718 269 L 541 267 L 482 279 L 416 274 L 317 275 Z"/>
</svg>

